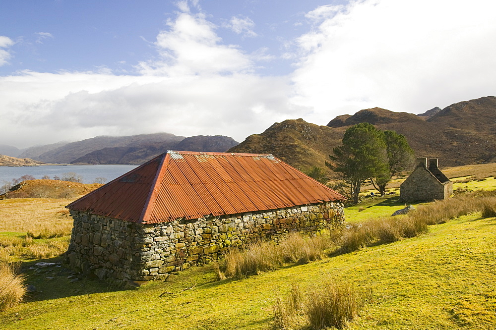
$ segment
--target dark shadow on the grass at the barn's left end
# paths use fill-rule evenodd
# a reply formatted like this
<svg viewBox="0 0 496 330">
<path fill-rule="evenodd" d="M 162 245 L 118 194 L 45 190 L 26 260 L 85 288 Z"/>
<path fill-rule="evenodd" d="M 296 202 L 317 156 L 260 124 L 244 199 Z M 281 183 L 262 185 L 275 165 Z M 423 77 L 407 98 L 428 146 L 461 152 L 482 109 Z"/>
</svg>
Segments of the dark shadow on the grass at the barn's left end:
<svg viewBox="0 0 496 330">
<path fill-rule="evenodd" d="M 25 283 L 36 288 L 24 297 L 27 302 L 124 290 L 122 287 L 110 285 L 103 280 L 91 280 L 82 274 L 74 274 L 64 264 L 48 267 L 36 266 L 40 262 L 58 264 L 62 262 L 62 257 L 22 263 L 21 272 L 26 276 Z"/>
</svg>

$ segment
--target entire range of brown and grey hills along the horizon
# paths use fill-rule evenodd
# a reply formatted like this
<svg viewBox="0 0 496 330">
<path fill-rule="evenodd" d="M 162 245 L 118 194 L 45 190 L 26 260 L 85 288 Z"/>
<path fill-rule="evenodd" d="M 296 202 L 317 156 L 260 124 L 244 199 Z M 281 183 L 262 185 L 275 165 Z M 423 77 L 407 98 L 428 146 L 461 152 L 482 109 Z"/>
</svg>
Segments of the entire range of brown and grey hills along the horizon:
<svg viewBox="0 0 496 330">
<path fill-rule="evenodd" d="M 382 130 L 406 136 L 418 157 L 437 157 L 441 166 L 496 162 L 496 97 L 435 107 L 421 114 L 381 108 L 339 115 L 326 126 L 303 119 L 274 123 L 261 134 L 238 144 L 228 136 L 177 136 L 170 133 L 97 136 L 21 151 L 0 145 L 0 154 L 53 164 L 142 164 L 167 150 L 270 153 L 299 169 L 324 166 L 332 149 L 341 144 L 348 127 L 369 122 Z M 22 153 L 21 153 L 22 152 Z"/>
</svg>

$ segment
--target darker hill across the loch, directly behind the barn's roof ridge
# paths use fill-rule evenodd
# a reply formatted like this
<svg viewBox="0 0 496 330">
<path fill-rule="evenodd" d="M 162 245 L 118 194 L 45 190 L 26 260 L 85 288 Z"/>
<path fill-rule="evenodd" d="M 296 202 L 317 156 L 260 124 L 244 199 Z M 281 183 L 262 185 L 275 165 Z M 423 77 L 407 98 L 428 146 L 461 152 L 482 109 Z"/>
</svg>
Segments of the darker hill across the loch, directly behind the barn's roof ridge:
<svg viewBox="0 0 496 330">
<path fill-rule="evenodd" d="M 181 141 L 129 144 L 125 147 L 103 148 L 73 160 L 72 164 L 143 164 L 167 150 L 225 152 L 237 145 L 233 138 L 222 135 L 190 136 Z"/>
</svg>

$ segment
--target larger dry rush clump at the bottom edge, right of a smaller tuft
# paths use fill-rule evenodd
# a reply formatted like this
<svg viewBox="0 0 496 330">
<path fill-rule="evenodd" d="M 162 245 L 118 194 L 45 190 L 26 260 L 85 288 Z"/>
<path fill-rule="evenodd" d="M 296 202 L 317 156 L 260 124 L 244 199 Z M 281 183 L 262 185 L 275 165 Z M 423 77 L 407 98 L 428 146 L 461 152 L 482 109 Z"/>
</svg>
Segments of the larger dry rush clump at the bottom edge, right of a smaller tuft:
<svg viewBox="0 0 496 330">
<path fill-rule="evenodd" d="M 311 286 L 304 307 L 311 329 L 343 329 L 356 316 L 360 305 L 358 300 L 349 283 L 332 277 Z"/>
</svg>

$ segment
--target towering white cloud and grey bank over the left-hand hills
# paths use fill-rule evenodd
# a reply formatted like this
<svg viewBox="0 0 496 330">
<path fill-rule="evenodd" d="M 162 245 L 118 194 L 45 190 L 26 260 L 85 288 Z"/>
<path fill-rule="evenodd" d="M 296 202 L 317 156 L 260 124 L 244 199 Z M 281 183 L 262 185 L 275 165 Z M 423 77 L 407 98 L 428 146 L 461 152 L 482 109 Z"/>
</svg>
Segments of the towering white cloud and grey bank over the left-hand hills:
<svg viewBox="0 0 496 330">
<path fill-rule="evenodd" d="M 157 36 L 159 58 L 139 75 L 24 71 L 0 77 L 4 144 L 77 140 L 96 135 L 170 132 L 228 135 L 243 141 L 274 121 L 301 116 L 288 103 L 285 77 L 252 73 L 265 50 L 225 45 L 203 14 L 178 13 Z"/>
</svg>

